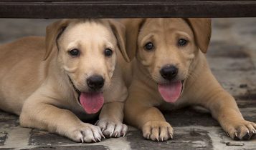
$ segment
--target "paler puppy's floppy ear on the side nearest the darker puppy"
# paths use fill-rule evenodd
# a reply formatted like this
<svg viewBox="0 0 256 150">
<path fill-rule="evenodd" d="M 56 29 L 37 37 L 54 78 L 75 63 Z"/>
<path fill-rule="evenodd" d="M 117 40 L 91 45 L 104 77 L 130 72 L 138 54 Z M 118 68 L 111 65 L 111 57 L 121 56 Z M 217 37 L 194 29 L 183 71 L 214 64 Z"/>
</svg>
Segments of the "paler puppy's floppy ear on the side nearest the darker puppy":
<svg viewBox="0 0 256 150">
<path fill-rule="evenodd" d="M 123 59 L 125 59 L 125 61 L 127 62 L 130 62 L 131 60 L 129 59 L 125 51 L 125 26 L 113 19 L 109 19 L 108 22 L 113 31 L 113 34 L 115 35 L 115 38 L 118 40 L 118 49 L 123 55 Z"/>
</svg>

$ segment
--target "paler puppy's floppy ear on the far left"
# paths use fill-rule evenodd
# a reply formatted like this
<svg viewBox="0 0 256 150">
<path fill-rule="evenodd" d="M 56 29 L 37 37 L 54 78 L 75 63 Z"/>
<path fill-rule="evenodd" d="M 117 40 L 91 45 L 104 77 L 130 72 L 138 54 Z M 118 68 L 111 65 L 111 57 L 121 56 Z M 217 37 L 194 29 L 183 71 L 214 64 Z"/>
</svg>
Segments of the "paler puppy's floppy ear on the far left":
<svg viewBox="0 0 256 150">
<path fill-rule="evenodd" d="M 62 19 L 60 21 L 55 21 L 46 28 L 46 37 L 45 37 L 45 54 L 44 60 L 46 60 L 53 49 L 57 49 L 57 38 L 62 34 L 67 25 L 70 23 L 69 19 Z"/>
</svg>

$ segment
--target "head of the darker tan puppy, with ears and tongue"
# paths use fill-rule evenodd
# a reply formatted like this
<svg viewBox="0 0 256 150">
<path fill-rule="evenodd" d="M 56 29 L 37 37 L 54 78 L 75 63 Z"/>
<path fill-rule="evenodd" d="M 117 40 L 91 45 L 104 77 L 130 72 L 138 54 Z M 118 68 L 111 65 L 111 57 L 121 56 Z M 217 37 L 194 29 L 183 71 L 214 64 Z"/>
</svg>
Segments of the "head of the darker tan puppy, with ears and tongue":
<svg viewBox="0 0 256 150">
<path fill-rule="evenodd" d="M 210 19 L 125 19 L 126 50 L 158 84 L 164 100 L 175 102 L 199 49 L 207 52 Z"/>
</svg>

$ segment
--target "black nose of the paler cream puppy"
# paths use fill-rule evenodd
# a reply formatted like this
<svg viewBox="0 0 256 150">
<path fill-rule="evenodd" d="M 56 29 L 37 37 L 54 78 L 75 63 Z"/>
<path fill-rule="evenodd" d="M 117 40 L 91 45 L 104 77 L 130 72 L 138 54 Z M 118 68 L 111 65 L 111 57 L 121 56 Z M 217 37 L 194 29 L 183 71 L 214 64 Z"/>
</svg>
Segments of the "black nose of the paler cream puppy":
<svg viewBox="0 0 256 150">
<path fill-rule="evenodd" d="M 94 75 L 87 79 L 87 85 L 90 89 L 98 90 L 104 86 L 104 81 L 102 76 Z"/>
</svg>

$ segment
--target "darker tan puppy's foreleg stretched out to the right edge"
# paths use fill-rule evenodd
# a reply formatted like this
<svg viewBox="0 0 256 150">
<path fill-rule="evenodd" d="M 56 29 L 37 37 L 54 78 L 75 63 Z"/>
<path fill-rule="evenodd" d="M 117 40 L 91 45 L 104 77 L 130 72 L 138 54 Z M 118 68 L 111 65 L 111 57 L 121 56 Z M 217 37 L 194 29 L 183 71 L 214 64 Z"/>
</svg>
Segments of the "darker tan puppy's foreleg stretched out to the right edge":
<svg viewBox="0 0 256 150">
<path fill-rule="evenodd" d="M 202 90 L 192 90 L 191 97 L 197 96 L 194 101 L 190 102 L 195 102 L 209 109 L 214 119 L 219 121 L 222 129 L 227 131 L 232 139 L 250 139 L 252 134 L 256 133 L 256 124 L 246 121 L 242 117 L 234 98 L 222 89 L 212 73 L 207 70 L 204 69 L 200 79 L 194 82 L 196 83 L 194 89 Z"/>
</svg>

